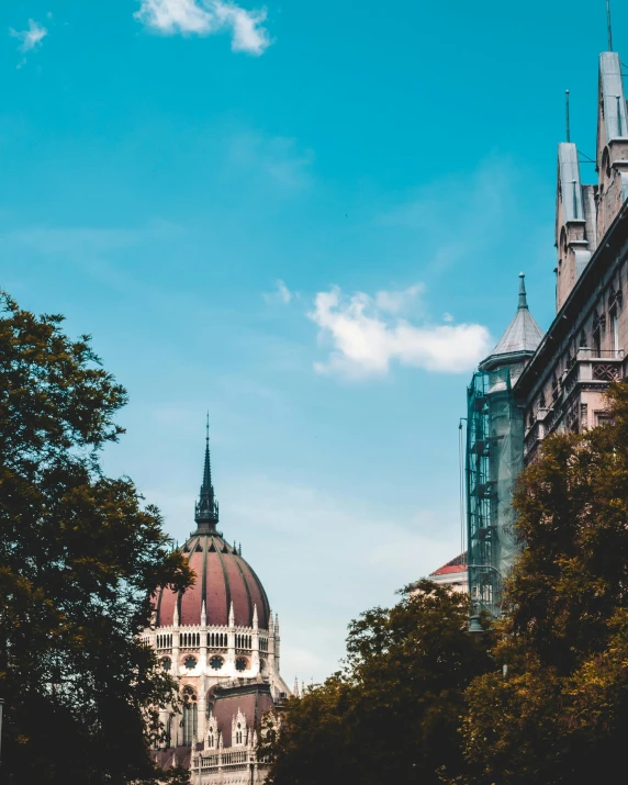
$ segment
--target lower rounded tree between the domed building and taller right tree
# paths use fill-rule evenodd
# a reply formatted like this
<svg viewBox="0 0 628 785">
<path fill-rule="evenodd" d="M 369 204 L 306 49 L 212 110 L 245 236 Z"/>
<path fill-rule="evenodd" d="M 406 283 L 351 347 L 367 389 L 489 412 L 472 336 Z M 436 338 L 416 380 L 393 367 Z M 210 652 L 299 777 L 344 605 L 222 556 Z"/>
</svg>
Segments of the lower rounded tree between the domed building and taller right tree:
<svg viewBox="0 0 628 785">
<path fill-rule="evenodd" d="M 267 729 L 273 785 L 431 785 L 462 771 L 464 689 L 491 660 L 467 632 L 464 595 L 429 581 L 402 594 L 352 621 L 344 671 Z"/>
</svg>

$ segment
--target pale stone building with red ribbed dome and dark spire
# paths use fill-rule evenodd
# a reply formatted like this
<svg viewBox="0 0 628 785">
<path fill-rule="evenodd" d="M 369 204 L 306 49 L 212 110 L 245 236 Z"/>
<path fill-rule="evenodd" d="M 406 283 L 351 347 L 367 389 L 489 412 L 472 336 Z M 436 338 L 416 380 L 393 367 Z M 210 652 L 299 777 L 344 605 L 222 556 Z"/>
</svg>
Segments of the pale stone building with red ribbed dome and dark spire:
<svg viewBox="0 0 628 785">
<path fill-rule="evenodd" d="M 262 717 L 291 693 L 279 670 L 279 618 L 242 547 L 217 529 L 209 435 L 194 520 L 181 550 L 195 583 L 159 591 L 144 632 L 181 699 L 180 711 L 160 713 L 167 742 L 153 755 L 164 769 L 191 769 L 194 784 L 255 785 L 267 774 L 256 758 Z"/>
</svg>

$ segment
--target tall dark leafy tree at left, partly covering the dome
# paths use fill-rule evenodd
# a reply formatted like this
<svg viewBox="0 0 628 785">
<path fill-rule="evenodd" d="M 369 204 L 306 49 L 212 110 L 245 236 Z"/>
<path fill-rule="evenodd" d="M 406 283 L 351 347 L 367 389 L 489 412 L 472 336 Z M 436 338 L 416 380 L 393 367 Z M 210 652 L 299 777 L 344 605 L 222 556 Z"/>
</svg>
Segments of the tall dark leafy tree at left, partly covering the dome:
<svg viewBox="0 0 628 785">
<path fill-rule="evenodd" d="M 191 576 L 157 508 L 101 471 L 126 393 L 89 336 L 0 303 L 2 782 L 150 778 L 173 684 L 136 636 L 155 587 Z"/>
</svg>

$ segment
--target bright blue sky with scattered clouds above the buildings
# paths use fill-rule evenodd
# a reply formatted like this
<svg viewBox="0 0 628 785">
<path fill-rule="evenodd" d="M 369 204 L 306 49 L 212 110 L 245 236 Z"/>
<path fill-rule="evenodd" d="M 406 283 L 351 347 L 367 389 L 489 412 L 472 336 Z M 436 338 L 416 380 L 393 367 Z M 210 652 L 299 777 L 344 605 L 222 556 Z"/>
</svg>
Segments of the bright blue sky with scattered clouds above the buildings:
<svg viewBox="0 0 628 785">
<path fill-rule="evenodd" d="M 603 0 L 14 0 L 0 36 L 0 285 L 93 335 L 131 395 L 106 469 L 179 540 L 210 411 L 284 676 L 324 677 L 351 617 L 458 552 L 466 384 L 519 270 L 552 318 Z"/>
</svg>

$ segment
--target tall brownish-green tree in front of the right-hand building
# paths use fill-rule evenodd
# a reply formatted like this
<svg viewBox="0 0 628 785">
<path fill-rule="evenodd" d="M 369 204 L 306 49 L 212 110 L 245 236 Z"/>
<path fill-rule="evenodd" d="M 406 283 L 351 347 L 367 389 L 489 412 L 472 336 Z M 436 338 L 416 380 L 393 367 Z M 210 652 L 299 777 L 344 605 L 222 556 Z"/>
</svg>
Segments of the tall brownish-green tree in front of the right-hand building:
<svg viewBox="0 0 628 785">
<path fill-rule="evenodd" d="M 612 424 L 547 439 L 518 481 L 524 546 L 493 655 L 507 676 L 468 691 L 476 780 L 601 782 L 624 769 L 628 733 L 628 385 Z"/>
</svg>

